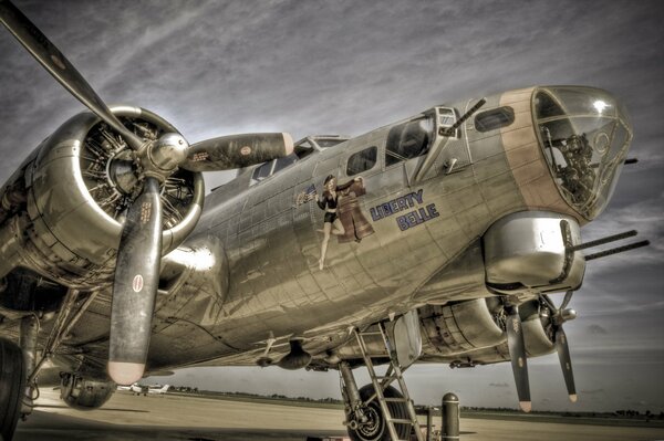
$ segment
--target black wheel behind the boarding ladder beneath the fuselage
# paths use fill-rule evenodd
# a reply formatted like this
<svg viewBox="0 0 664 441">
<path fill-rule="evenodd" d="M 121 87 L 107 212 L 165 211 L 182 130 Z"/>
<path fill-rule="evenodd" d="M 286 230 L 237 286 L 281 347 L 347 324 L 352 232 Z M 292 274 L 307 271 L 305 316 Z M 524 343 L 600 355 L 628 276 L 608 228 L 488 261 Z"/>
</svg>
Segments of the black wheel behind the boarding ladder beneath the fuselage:
<svg viewBox="0 0 664 441">
<path fill-rule="evenodd" d="M 360 389 L 360 398 L 362 399 L 362 401 L 366 401 L 373 393 L 373 385 L 366 385 Z M 387 389 L 385 389 L 384 395 L 385 398 L 403 398 L 401 392 L 392 386 L 387 386 Z M 408 409 L 405 402 L 387 402 L 387 408 L 390 409 L 392 418 L 409 419 Z M 352 430 L 351 428 L 347 429 L 349 437 L 351 438 L 351 440 L 392 441 L 392 438 L 390 438 L 390 431 L 387 430 L 387 424 L 385 422 L 385 417 L 381 411 L 381 405 L 378 405 L 377 400 L 374 399 L 366 407 L 365 416 L 370 419 L 370 422 L 367 424 L 363 424 L 355 430 Z M 395 423 L 394 428 L 396 429 L 396 433 L 401 440 L 406 440 L 409 438 L 409 424 Z"/>
</svg>

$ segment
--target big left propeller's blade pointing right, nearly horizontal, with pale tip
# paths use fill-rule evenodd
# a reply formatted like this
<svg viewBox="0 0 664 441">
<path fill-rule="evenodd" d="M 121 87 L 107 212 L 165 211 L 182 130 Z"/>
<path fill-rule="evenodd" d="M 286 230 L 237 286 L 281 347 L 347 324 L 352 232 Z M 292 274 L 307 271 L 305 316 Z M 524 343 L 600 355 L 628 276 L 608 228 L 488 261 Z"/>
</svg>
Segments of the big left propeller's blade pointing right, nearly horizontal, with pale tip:
<svg viewBox="0 0 664 441">
<path fill-rule="evenodd" d="M 287 133 L 220 136 L 189 147 L 180 167 L 189 171 L 218 171 L 266 162 L 293 153 Z"/>
</svg>

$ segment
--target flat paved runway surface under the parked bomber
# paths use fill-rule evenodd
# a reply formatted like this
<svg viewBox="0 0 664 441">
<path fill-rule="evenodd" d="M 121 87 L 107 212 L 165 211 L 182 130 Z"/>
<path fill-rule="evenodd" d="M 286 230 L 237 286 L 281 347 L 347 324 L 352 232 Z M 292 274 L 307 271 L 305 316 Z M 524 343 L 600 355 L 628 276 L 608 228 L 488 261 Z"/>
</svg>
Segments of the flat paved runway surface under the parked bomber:
<svg viewBox="0 0 664 441">
<path fill-rule="evenodd" d="M 42 392 L 39 405 L 19 423 L 15 441 L 304 441 L 345 434 L 340 409 L 118 392 L 104 408 L 81 412 L 64 407 L 52 390 Z M 664 440 L 664 429 L 461 418 L 460 439 L 654 441 Z"/>
</svg>

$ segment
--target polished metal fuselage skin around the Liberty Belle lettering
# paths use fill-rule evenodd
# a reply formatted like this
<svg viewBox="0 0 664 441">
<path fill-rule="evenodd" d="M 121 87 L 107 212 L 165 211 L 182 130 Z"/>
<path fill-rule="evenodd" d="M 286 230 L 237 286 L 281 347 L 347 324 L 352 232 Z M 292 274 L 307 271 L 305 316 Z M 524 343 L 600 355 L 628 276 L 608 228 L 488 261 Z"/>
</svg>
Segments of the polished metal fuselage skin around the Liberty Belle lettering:
<svg viewBox="0 0 664 441">
<path fill-rule="evenodd" d="M 350 326 L 367 325 L 432 300 L 444 303 L 490 295 L 479 286 L 456 296 L 449 293 L 447 298 L 444 287 L 429 290 L 426 296 L 417 293 L 509 213 L 548 210 L 575 214 L 560 199 L 538 156 L 531 93 L 525 90 L 489 97 L 485 108 L 508 103 L 516 109 L 516 122 L 492 133 L 479 133 L 466 123 L 460 137 L 448 140 L 438 164 L 425 177 L 417 176 L 424 157 L 385 167 L 384 149 L 392 127 L 386 126 L 308 157 L 253 186 L 246 174 L 216 190 L 206 200 L 191 240 L 211 235 L 224 243 L 228 290 L 216 296 L 187 293 L 191 298 L 183 308 L 157 311 L 157 317 L 186 318 L 189 325 L 176 321 L 174 326 L 189 326 L 198 337 L 167 327 L 155 334 L 151 349 L 154 367 L 178 365 L 183 358 L 216 357 L 219 364 L 250 365 L 270 335 L 278 339 L 277 351 L 286 350 L 289 338 L 304 337 L 305 347 L 322 353 L 345 342 Z M 456 107 L 464 113 L 474 102 L 456 103 Z M 506 139 L 517 154 L 506 149 Z M 322 234 L 317 230 L 322 229 L 323 211 L 313 201 L 297 204 L 297 196 L 311 183 L 320 192 L 330 174 L 339 182 L 352 179 L 344 174 L 347 158 L 371 146 L 378 148 L 378 161 L 362 174 L 366 195 L 360 199 L 375 233 L 361 243 L 335 243 L 333 238 L 321 271 Z M 510 162 L 523 151 L 522 166 L 539 179 L 528 183 L 527 196 L 521 189 L 527 183 L 515 177 Z M 457 159 L 453 172 L 446 174 L 442 166 L 445 157 Z M 535 202 L 528 200 L 533 195 L 539 198 Z M 374 220 L 380 218 L 377 208 L 391 202 L 398 211 Z M 430 207 L 437 216 L 430 216 Z M 430 219 L 417 223 L 419 209 Z M 419 217 L 413 227 L 402 230 L 396 218 L 412 211 Z M 169 350 L 174 347 L 178 350 Z"/>
</svg>

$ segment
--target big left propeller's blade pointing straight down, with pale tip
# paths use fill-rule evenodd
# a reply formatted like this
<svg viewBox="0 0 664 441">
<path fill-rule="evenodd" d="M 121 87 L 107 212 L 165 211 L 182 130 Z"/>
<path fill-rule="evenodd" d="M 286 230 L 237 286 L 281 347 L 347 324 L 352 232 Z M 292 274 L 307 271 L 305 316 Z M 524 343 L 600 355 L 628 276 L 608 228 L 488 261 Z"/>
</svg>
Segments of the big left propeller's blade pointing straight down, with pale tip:
<svg viewBox="0 0 664 441">
<path fill-rule="evenodd" d="M 159 181 L 148 177 L 143 193 L 128 209 L 115 265 L 108 375 L 118 385 L 143 377 L 160 260 Z"/>
</svg>

